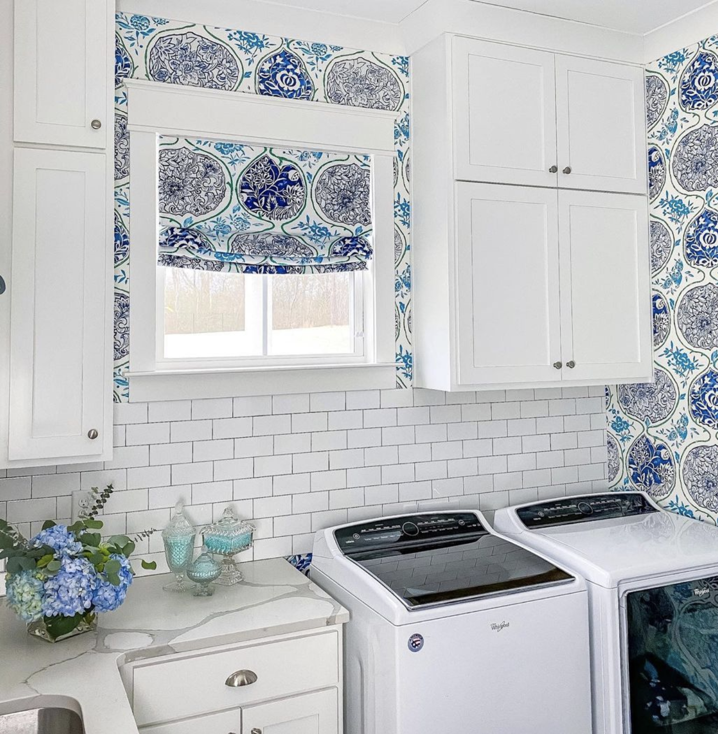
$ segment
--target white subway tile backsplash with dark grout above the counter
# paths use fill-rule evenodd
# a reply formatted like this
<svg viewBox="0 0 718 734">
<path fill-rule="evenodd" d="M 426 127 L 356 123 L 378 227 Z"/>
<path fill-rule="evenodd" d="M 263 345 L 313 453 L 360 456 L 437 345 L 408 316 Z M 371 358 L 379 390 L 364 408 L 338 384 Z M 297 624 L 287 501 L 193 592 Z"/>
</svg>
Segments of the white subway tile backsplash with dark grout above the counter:
<svg viewBox="0 0 718 734">
<path fill-rule="evenodd" d="M 208 523 L 253 518 L 247 558 L 311 550 L 313 532 L 417 509 L 486 512 L 606 490 L 605 389 L 360 390 L 115 406 L 111 461 L 0 470 L 0 517 L 70 520 L 71 493 L 115 493 L 106 531 L 162 528 L 177 501 Z M 140 550 L 164 569 L 162 539 Z"/>
</svg>

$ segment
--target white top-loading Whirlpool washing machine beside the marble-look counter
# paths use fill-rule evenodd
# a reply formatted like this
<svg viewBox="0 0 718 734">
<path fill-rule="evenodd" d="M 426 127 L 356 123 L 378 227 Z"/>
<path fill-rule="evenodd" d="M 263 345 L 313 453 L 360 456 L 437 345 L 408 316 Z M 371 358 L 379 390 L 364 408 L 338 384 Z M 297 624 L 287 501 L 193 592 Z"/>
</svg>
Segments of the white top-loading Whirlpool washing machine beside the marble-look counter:
<svg viewBox="0 0 718 734">
<path fill-rule="evenodd" d="M 351 614 L 347 734 L 590 734 L 584 581 L 478 512 L 320 531 L 311 578 Z"/>
</svg>

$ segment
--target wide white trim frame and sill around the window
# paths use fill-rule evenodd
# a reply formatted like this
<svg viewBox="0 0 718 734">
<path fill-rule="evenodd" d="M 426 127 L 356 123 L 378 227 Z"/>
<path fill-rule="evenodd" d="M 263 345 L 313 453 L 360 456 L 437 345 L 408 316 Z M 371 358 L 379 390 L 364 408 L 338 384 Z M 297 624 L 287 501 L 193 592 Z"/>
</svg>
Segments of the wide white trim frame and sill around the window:
<svg viewBox="0 0 718 734">
<path fill-rule="evenodd" d="M 131 176 L 130 400 L 167 400 L 396 385 L 394 124 L 396 112 L 127 79 Z M 242 120 L 242 131 L 236 130 Z M 159 137 L 367 155 L 374 257 L 361 277 L 363 355 L 272 357 L 229 364 L 159 359 Z M 261 276 L 260 276 L 261 277 Z M 282 377 L 278 379 L 277 374 Z"/>
</svg>

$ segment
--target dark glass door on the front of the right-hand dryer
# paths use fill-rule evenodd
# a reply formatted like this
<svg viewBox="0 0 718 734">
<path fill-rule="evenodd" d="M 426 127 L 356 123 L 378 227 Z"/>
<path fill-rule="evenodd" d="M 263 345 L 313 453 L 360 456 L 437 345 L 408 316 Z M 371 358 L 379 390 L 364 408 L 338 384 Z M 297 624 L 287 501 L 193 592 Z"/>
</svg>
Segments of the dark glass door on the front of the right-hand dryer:
<svg viewBox="0 0 718 734">
<path fill-rule="evenodd" d="M 718 577 L 626 597 L 631 734 L 718 734 Z"/>
</svg>

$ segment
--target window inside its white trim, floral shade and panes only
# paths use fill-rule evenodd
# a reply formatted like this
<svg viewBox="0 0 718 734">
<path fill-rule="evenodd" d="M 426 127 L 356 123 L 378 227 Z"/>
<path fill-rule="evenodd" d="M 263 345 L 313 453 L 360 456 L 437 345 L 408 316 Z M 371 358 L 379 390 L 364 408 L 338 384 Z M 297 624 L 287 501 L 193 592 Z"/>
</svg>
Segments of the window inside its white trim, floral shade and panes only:
<svg viewBox="0 0 718 734">
<path fill-rule="evenodd" d="M 158 364 L 365 359 L 369 156 L 160 137 L 158 161 Z"/>
</svg>

